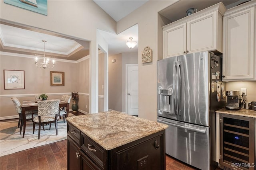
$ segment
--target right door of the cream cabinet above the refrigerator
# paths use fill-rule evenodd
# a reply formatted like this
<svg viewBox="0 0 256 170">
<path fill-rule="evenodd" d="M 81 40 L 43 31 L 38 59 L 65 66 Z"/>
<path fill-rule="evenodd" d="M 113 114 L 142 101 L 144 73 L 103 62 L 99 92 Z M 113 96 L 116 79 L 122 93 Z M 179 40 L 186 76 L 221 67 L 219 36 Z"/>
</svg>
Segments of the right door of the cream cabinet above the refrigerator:
<svg viewBox="0 0 256 170">
<path fill-rule="evenodd" d="M 187 53 L 216 50 L 217 14 L 211 12 L 187 22 Z"/>
</svg>

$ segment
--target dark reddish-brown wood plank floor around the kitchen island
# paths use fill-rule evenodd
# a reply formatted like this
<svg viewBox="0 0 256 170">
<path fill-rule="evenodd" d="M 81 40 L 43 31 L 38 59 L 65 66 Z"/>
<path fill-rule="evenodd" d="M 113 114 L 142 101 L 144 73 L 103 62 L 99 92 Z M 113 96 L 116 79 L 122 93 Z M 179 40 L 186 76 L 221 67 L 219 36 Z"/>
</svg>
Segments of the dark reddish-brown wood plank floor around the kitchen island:
<svg viewBox="0 0 256 170">
<path fill-rule="evenodd" d="M 67 141 L 64 140 L 1 156 L 0 170 L 66 170 L 66 150 Z M 196 170 L 196 168 L 166 155 L 166 170 Z"/>
</svg>

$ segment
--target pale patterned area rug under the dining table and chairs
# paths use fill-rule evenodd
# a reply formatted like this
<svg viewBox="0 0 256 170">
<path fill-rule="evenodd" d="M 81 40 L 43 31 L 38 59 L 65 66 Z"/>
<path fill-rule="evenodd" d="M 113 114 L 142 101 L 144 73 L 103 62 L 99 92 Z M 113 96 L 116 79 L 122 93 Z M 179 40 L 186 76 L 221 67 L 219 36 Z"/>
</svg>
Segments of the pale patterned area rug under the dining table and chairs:
<svg viewBox="0 0 256 170">
<path fill-rule="evenodd" d="M 74 115 L 69 113 L 69 116 Z M 1 122 L 0 156 L 67 139 L 67 122 L 63 123 L 63 119 L 58 121 L 58 135 L 56 135 L 54 123 L 52 123 L 51 130 L 49 130 L 49 125 L 45 125 L 44 129 L 45 131 L 41 128 L 40 139 L 38 140 L 38 125 L 36 125 L 33 135 L 33 123 L 27 121 L 25 136 L 22 138 L 20 129 L 18 129 L 18 120 Z"/>
</svg>

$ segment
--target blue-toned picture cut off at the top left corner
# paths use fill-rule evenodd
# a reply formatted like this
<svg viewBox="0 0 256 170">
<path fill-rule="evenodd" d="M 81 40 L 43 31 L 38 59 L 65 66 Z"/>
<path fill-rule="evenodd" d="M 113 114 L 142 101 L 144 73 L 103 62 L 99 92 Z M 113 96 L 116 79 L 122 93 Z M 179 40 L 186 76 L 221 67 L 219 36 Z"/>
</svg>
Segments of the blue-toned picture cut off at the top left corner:
<svg viewBox="0 0 256 170">
<path fill-rule="evenodd" d="M 47 16 L 47 0 L 4 0 L 4 3 Z"/>
</svg>

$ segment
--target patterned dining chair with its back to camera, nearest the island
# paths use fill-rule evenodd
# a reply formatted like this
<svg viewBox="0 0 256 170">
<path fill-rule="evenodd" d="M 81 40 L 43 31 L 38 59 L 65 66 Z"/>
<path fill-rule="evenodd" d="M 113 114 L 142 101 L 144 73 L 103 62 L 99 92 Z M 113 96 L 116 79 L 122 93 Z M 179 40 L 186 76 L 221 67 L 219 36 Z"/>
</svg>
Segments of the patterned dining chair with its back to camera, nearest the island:
<svg viewBox="0 0 256 170">
<path fill-rule="evenodd" d="M 33 119 L 33 134 L 35 131 L 35 125 L 38 125 L 38 139 L 40 139 L 41 125 L 55 124 L 56 135 L 58 135 L 58 119 L 59 119 L 59 99 L 54 100 L 38 100 L 38 116 Z"/>
</svg>

